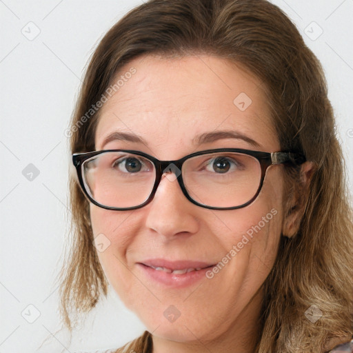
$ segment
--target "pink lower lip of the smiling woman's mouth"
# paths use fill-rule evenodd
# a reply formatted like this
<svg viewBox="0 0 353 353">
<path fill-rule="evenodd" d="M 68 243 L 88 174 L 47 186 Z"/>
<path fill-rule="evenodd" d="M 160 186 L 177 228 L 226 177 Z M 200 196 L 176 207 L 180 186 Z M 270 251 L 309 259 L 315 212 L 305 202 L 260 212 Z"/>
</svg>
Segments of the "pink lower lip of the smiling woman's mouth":
<svg viewBox="0 0 353 353">
<path fill-rule="evenodd" d="M 161 270 L 154 270 L 147 265 L 142 263 L 137 263 L 139 268 L 144 272 L 145 276 L 148 276 L 150 279 L 167 285 L 169 287 L 185 288 L 193 283 L 201 281 L 206 276 L 206 272 L 210 270 L 214 265 L 209 266 L 208 268 L 203 268 L 199 271 L 186 272 L 184 274 L 174 274 L 168 273 Z"/>
</svg>

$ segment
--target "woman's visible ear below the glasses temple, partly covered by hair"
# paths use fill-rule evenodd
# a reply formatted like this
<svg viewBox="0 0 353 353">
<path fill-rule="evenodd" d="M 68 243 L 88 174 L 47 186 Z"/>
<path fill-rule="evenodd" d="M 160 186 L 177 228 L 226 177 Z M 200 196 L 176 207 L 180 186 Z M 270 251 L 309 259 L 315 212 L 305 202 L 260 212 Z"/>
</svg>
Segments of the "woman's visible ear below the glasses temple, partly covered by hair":
<svg viewBox="0 0 353 353">
<path fill-rule="evenodd" d="M 288 202 L 286 203 L 285 219 L 282 226 L 283 236 L 291 238 L 299 231 L 309 194 L 310 180 L 315 170 L 316 163 L 312 161 L 306 161 L 301 165 L 300 181 L 294 184 L 294 189 L 288 196 Z"/>
</svg>

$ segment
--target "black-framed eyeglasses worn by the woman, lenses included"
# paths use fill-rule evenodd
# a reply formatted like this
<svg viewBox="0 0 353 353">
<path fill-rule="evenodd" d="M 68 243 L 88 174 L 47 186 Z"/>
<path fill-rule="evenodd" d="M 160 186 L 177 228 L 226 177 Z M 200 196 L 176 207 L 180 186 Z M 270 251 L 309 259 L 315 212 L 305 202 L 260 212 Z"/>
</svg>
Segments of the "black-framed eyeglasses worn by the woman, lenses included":
<svg viewBox="0 0 353 353">
<path fill-rule="evenodd" d="M 203 208 L 234 210 L 252 203 L 270 165 L 300 165 L 303 154 L 219 148 L 194 152 L 176 161 L 136 150 L 72 154 L 79 184 L 94 205 L 134 210 L 150 203 L 161 177 L 177 180 L 186 198 Z"/>
</svg>

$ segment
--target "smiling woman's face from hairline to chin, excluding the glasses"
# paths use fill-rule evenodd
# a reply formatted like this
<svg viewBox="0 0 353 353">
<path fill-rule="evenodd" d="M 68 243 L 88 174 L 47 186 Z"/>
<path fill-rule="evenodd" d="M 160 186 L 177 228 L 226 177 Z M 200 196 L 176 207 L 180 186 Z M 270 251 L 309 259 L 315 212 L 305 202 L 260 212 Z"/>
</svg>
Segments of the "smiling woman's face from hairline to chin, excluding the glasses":
<svg viewBox="0 0 353 353">
<path fill-rule="evenodd" d="M 125 74 L 129 71 L 134 74 Z M 280 150 L 261 81 L 228 61 L 145 56 L 126 64 L 115 81 L 119 78 L 119 90 L 101 109 L 96 150 L 139 150 L 160 160 L 212 148 Z M 193 141 L 223 130 L 254 142 L 229 136 Z M 104 143 L 113 132 L 145 142 Z M 105 275 L 155 337 L 206 342 L 254 330 L 281 234 L 282 168 L 270 167 L 257 199 L 237 210 L 194 205 L 168 174 L 143 208 L 90 205 L 94 237 L 105 243 L 98 252 Z M 212 270 L 220 262 L 219 270 Z M 202 275 L 168 273 L 208 265 Z"/>
</svg>

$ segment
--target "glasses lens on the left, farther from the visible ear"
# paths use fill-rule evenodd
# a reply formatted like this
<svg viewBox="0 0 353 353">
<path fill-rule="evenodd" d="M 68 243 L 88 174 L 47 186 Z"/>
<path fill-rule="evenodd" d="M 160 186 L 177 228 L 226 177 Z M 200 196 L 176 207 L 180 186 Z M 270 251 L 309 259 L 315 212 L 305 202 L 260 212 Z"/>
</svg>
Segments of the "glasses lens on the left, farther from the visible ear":
<svg viewBox="0 0 353 353">
<path fill-rule="evenodd" d="M 105 152 L 82 165 L 83 183 L 88 194 L 113 208 L 141 205 L 152 191 L 154 164 L 138 154 Z"/>
</svg>

